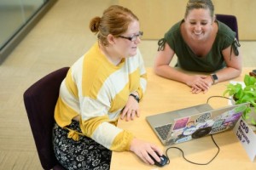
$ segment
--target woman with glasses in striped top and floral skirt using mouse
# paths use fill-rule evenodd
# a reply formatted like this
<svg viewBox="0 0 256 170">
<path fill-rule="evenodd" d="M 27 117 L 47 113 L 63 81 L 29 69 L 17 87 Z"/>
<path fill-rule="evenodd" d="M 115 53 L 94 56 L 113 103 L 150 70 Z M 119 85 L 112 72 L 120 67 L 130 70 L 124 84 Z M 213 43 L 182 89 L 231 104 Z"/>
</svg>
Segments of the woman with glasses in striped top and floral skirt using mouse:
<svg viewBox="0 0 256 170">
<path fill-rule="evenodd" d="M 139 116 L 147 85 L 137 16 L 113 5 L 90 21 L 90 30 L 98 41 L 67 72 L 55 106 L 57 160 L 67 169 L 109 169 L 112 150 L 131 150 L 148 164 L 148 154 L 160 161 L 156 145 L 116 127 L 119 116 Z"/>
</svg>

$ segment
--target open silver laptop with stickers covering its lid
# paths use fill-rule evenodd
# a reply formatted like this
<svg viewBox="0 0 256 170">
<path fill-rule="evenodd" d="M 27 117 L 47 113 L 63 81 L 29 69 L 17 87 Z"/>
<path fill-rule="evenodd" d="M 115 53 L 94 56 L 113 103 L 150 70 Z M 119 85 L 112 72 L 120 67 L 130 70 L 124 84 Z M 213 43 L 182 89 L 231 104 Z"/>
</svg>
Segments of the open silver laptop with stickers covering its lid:
<svg viewBox="0 0 256 170">
<path fill-rule="evenodd" d="M 178 144 L 232 129 L 247 105 L 229 105 L 219 109 L 212 109 L 208 104 L 195 105 L 146 116 L 146 120 L 162 144 Z"/>
</svg>

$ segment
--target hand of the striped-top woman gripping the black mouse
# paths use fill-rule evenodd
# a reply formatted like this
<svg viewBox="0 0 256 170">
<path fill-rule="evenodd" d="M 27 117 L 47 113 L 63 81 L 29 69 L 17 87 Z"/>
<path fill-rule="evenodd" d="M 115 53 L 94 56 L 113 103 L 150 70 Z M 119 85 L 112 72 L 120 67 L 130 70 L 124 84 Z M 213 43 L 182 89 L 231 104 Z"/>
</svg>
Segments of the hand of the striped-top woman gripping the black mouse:
<svg viewBox="0 0 256 170">
<path fill-rule="evenodd" d="M 150 144 L 140 139 L 132 139 L 130 150 L 144 162 L 151 165 L 154 165 L 154 161 L 149 155 L 153 156 L 156 161 L 160 161 L 160 157 L 157 156 L 155 152 L 157 152 L 160 156 L 163 155 L 160 148 L 158 148 L 156 145 Z"/>
</svg>

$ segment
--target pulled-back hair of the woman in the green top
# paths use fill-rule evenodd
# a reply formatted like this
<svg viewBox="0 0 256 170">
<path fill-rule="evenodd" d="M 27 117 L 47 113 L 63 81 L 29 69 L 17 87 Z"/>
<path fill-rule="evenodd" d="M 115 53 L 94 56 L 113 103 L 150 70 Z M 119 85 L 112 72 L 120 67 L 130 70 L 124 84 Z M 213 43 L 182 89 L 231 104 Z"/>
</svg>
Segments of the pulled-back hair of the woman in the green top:
<svg viewBox="0 0 256 170">
<path fill-rule="evenodd" d="M 189 0 L 186 7 L 185 18 L 188 16 L 189 11 L 194 8 L 209 8 L 211 17 L 214 16 L 214 6 L 212 0 Z"/>
</svg>

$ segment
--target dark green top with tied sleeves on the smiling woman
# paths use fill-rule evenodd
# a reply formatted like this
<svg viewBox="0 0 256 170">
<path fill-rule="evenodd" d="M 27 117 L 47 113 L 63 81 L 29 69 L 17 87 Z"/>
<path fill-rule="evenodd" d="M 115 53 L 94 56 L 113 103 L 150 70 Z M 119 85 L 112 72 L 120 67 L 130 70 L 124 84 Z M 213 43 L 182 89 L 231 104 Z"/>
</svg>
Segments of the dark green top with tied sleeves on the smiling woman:
<svg viewBox="0 0 256 170">
<path fill-rule="evenodd" d="M 183 40 L 180 31 L 182 22 L 183 20 L 172 26 L 172 28 L 166 32 L 165 37 L 158 42 L 158 50 L 163 50 L 166 42 L 174 50 L 177 55 L 177 66 L 187 71 L 214 72 L 225 66 L 224 56 L 222 54 L 223 49 L 232 45 L 231 47 L 234 49 L 236 56 L 238 55 L 237 47 L 240 47 L 240 44 L 236 40 L 236 32 L 232 31 L 230 27 L 224 25 L 224 23 L 217 21 L 218 32 L 212 44 L 212 49 L 204 57 L 197 56 Z"/>
</svg>

